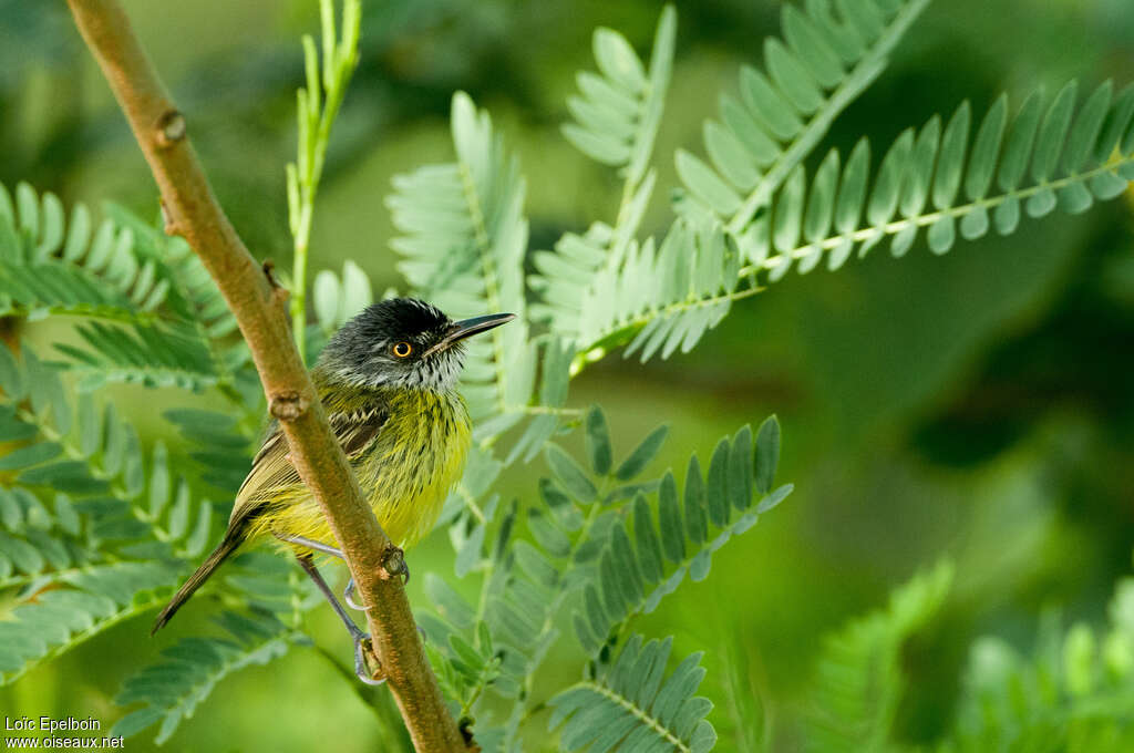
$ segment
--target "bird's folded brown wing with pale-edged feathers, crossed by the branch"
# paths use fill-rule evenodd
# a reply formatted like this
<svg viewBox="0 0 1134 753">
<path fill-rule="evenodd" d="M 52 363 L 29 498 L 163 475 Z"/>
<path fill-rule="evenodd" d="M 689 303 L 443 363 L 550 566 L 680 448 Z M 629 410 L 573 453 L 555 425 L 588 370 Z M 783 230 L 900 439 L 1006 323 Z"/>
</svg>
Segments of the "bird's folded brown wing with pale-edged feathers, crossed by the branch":
<svg viewBox="0 0 1134 753">
<path fill-rule="evenodd" d="M 339 440 L 347 459 L 354 459 L 366 450 L 378 438 L 388 417 L 383 408 L 354 411 L 349 413 L 331 413 L 327 416 L 331 432 Z M 288 457 L 288 443 L 279 424 L 276 423 L 252 460 L 240 490 L 236 494 L 236 505 L 229 526 L 247 518 L 279 492 L 301 485 L 299 473 Z"/>
</svg>

